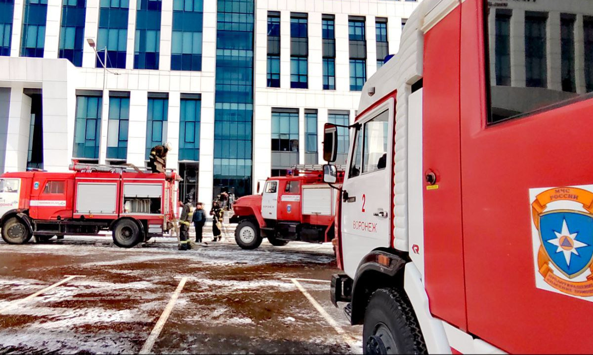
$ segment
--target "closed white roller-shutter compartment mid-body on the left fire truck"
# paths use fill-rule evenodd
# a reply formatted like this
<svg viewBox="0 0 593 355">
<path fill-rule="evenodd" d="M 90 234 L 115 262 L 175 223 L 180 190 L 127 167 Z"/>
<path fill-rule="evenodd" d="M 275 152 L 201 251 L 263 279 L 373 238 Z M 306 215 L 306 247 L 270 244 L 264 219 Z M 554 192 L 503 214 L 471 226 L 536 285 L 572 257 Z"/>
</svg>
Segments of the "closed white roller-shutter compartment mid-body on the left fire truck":
<svg viewBox="0 0 593 355">
<path fill-rule="evenodd" d="M 116 214 L 117 183 L 78 182 L 77 214 Z"/>
</svg>

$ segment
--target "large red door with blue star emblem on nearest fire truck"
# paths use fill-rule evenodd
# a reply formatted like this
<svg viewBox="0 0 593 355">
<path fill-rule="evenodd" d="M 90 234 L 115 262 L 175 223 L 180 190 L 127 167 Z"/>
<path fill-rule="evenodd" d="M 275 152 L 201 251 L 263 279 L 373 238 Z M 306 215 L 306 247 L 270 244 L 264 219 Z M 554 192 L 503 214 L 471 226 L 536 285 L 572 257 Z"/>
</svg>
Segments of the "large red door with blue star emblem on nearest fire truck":
<svg viewBox="0 0 593 355">
<path fill-rule="evenodd" d="M 593 349 L 586 325 L 593 318 L 593 160 L 588 149 L 593 99 L 590 93 L 581 95 L 582 72 L 576 72 L 578 91 L 570 89 L 570 79 L 560 81 L 560 53 L 566 51 L 560 34 L 578 34 L 578 19 L 589 18 L 593 8 L 589 1 L 575 2 L 575 24 L 575 15 L 572 20 L 561 17 L 563 9 L 556 5 L 564 2 L 537 2 L 538 7 L 526 3 L 521 20 L 514 2 L 506 12 L 492 3 L 466 0 L 462 5 L 461 181 L 468 331 L 508 353 L 588 353 Z M 482 18 L 483 4 L 492 6 L 487 18 Z M 542 12 L 525 11 L 535 8 Z M 483 33 L 482 21 L 489 24 L 490 35 Z M 500 64 L 498 49 L 490 49 L 497 59 L 487 66 L 481 54 L 487 54 L 484 44 L 488 39 L 495 42 L 492 33 L 496 46 L 514 43 L 515 21 L 529 29 L 529 37 L 519 42 L 531 48 L 530 60 L 515 63 L 511 55 L 510 64 Z M 511 39 L 499 36 L 508 36 L 509 27 Z M 541 33 L 543 47 L 538 47 L 534 36 Z M 546 36 L 557 38 L 548 42 L 547 51 Z M 568 38 L 576 48 L 589 46 L 582 35 Z M 543 67 L 533 65 L 538 57 L 543 57 Z M 551 72 L 557 77 L 546 78 L 546 57 L 554 70 L 557 65 Z M 508 78 L 500 72 L 501 65 L 511 68 Z M 543 77 L 537 76 L 542 72 Z M 523 73 L 522 79 L 516 73 Z M 492 78 L 491 86 L 486 78 Z M 562 334 L 569 340 L 561 340 Z"/>
</svg>

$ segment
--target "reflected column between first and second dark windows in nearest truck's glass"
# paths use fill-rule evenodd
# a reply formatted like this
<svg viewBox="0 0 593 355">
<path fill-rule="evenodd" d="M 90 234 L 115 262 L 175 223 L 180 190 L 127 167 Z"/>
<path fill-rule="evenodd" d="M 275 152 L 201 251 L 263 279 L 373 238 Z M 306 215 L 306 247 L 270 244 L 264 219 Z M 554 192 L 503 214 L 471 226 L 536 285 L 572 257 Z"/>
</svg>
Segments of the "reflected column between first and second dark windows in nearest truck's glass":
<svg viewBox="0 0 593 355">
<path fill-rule="evenodd" d="M 514 9 L 511 17 L 511 86 L 525 88 L 525 11 Z"/>
</svg>

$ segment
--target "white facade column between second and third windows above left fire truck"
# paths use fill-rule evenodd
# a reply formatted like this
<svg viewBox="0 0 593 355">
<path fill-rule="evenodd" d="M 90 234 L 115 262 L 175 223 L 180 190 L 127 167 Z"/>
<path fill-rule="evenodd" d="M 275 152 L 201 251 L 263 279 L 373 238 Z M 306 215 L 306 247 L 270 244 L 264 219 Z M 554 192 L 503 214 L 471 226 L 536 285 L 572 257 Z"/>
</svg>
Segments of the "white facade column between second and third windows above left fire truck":
<svg viewBox="0 0 593 355">
<path fill-rule="evenodd" d="M 127 162 L 145 166 L 146 117 L 148 117 L 148 93 L 130 92 L 130 121 L 127 133 Z"/>
</svg>

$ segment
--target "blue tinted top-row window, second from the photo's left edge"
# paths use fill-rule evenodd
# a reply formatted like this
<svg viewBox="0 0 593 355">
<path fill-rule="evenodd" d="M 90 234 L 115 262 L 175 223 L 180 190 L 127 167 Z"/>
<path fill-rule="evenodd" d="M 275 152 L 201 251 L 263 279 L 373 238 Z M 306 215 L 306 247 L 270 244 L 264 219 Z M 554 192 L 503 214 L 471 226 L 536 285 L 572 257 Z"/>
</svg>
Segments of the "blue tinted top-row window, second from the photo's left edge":
<svg viewBox="0 0 593 355">
<path fill-rule="evenodd" d="M 47 0 L 26 0 L 23 16 L 21 57 L 43 58 Z"/>
</svg>

